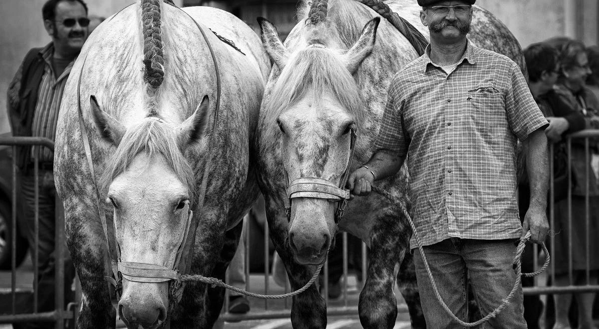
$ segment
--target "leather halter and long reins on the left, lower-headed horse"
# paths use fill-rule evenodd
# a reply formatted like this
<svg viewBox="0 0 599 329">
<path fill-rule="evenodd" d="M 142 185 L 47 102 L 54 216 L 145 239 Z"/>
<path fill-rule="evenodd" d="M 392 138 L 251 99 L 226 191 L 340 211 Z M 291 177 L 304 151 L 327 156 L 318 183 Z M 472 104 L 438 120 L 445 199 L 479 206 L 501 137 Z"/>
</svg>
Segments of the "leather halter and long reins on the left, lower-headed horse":
<svg viewBox="0 0 599 329">
<path fill-rule="evenodd" d="M 167 2 L 168 3 L 168 2 Z M 172 5 L 172 4 L 171 4 Z M 129 7 L 129 6 L 127 6 Z M 127 8 L 125 7 L 125 8 Z M 178 8 L 173 5 L 173 7 Z M 123 8 L 123 10 L 125 9 Z M 179 8 L 180 9 L 180 8 Z M 181 10 L 181 9 L 180 9 Z M 121 10 L 122 11 L 122 10 Z M 181 10 L 181 12 L 185 13 L 190 19 L 192 19 L 193 23 L 198 27 L 199 31 L 202 33 L 204 41 L 207 44 L 208 50 L 210 50 L 210 54 L 214 63 L 214 73 L 216 75 L 216 110 L 214 112 L 214 121 L 212 124 L 212 131 L 210 138 L 209 149 L 206 154 L 208 154 L 207 162 L 204 166 L 204 174 L 202 176 L 202 184 L 199 189 L 199 202 L 196 206 L 196 209 L 201 211 L 204 206 L 204 197 L 205 191 L 207 188 L 208 182 L 208 172 L 210 170 L 210 164 L 212 160 L 211 154 L 213 154 L 214 147 L 214 131 L 216 130 L 216 123 L 219 118 L 219 108 L 220 108 L 220 72 L 219 67 L 216 61 L 216 56 L 214 54 L 214 50 L 208 41 L 204 30 L 198 24 L 198 22 L 193 19 L 189 14 L 185 11 Z M 120 11 L 119 11 L 120 13 Z M 119 14 L 117 13 L 117 14 Z M 116 16 L 116 15 L 115 15 Z M 113 16 L 114 17 L 114 16 Z M 128 281 L 134 282 L 147 282 L 147 283 L 160 283 L 160 282 L 169 282 L 169 290 L 168 290 L 168 299 L 169 299 L 169 309 L 174 307 L 174 304 L 178 303 L 181 300 L 182 290 L 180 290 L 182 282 L 180 281 L 181 274 L 187 274 L 190 272 L 190 261 L 193 255 L 193 245 L 195 245 L 195 231 L 198 226 L 198 221 L 193 220 L 193 212 L 189 208 L 189 201 L 186 202 L 186 205 L 181 211 L 181 214 L 187 215 L 187 223 L 185 233 L 181 239 L 179 248 L 177 248 L 177 254 L 175 258 L 175 263 L 172 268 L 168 268 L 165 266 L 161 266 L 158 264 L 147 264 L 147 263 L 137 263 L 137 262 L 124 262 L 120 257 L 120 246 L 116 240 L 116 227 L 114 226 L 113 218 L 108 219 L 104 212 L 104 205 L 101 203 L 101 194 L 98 190 L 98 184 L 96 184 L 95 178 L 95 170 L 93 167 L 92 161 L 92 152 L 90 150 L 89 137 L 87 135 L 87 130 L 83 120 L 83 112 L 81 111 L 81 76 L 83 75 L 83 68 L 85 66 L 85 62 L 87 60 L 87 55 L 83 60 L 83 64 L 81 65 L 81 71 L 79 73 L 79 79 L 77 83 L 77 107 L 78 107 L 78 118 L 81 129 L 81 139 L 83 139 L 83 147 L 87 158 L 87 164 L 89 165 L 90 174 L 92 178 L 93 185 L 96 191 L 96 205 L 98 206 L 98 213 L 102 223 L 102 229 L 104 231 L 104 236 L 106 239 L 106 250 L 107 254 L 104 255 L 105 260 L 105 280 L 109 284 L 110 288 L 114 288 L 114 296 L 111 293 L 111 303 L 114 308 L 117 310 L 117 304 L 120 300 L 120 295 L 122 294 L 122 281 L 126 279 Z"/>
</svg>

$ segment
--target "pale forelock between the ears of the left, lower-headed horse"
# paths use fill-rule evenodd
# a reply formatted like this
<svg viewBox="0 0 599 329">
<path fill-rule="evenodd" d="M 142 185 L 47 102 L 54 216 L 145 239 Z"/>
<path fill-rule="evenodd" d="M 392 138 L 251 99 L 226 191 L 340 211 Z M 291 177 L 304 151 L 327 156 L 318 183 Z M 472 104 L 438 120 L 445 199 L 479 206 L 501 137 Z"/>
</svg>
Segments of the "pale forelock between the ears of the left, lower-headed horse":
<svg viewBox="0 0 599 329">
<path fill-rule="evenodd" d="M 177 145 L 176 132 L 170 124 L 156 117 L 144 118 L 137 126 L 127 129 L 114 155 L 108 160 L 107 169 L 102 174 L 100 181 L 102 191 L 107 191 L 116 176 L 125 172 L 135 156 L 141 152 L 146 152 L 150 158 L 158 154 L 163 156 L 175 175 L 186 184 L 190 200 L 197 199 L 195 175 Z M 147 166 L 150 163 L 151 160 L 147 162 Z"/>
</svg>

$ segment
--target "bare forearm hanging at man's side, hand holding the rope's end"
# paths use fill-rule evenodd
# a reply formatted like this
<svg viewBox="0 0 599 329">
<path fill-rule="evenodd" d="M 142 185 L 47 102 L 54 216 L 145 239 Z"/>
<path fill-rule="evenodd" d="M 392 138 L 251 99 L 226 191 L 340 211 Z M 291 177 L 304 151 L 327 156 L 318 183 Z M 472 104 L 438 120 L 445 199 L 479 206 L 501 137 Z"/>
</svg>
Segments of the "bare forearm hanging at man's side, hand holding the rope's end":
<svg viewBox="0 0 599 329">
<path fill-rule="evenodd" d="M 530 206 L 547 207 L 549 186 L 549 162 L 547 159 L 547 138 L 543 129 L 537 129 L 524 141 L 527 158 L 527 172 L 530 178 Z"/>
</svg>

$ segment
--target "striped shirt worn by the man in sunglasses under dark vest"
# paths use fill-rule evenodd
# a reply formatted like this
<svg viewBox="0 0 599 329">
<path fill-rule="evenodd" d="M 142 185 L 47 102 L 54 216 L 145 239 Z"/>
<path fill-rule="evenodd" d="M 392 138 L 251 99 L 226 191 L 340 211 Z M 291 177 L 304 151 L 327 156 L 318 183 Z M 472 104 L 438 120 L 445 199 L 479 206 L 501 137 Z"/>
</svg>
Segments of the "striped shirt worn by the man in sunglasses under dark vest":
<svg viewBox="0 0 599 329">
<path fill-rule="evenodd" d="M 44 75 L 41 78 L 31 135 L 45 137 L 54 141 L 56 138 L 56 124 L 58 124 L 58 112 L 62 93 L 65 90 L 66 80 L 75 60 L 66 66 L 65 71 L 60 74 L 60 77 L 56 78 L 54 69 L 52 68 L 52 56 L 54 54 L 52 42 L 40 50 L 40 53 L 44 62 L 46 62 L 46 66 L 44 67 Z M 37 151 L 37 149 L 39 150 Z M 54 160 L 54 153 L 48 148 L 34 147 L 31 150 L 32 159 L 35 159 L 35 152 L 37 151 L 40 162 L 53 162 Z"/>
</svg>

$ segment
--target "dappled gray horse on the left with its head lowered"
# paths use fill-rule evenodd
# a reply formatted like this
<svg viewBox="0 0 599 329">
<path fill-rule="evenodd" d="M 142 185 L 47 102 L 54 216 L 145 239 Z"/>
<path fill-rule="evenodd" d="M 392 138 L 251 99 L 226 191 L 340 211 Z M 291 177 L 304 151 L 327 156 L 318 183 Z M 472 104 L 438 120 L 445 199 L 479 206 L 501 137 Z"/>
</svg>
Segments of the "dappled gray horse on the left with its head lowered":
<svg viewBox="0 0 599 329">
<path fill-rule="evenodd" d="M 214 324 L 222 288 L 179 287 L 176 271 L 224 278 L 258 195 L 250 147 L 269 72 L 258 35 L 215 8 L 142 0 L 92 33 L 65 89 L 55 156 L 79 327 L 115 326 L 113 271 L 129 328 Z"/>
</svg>

